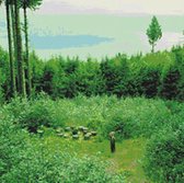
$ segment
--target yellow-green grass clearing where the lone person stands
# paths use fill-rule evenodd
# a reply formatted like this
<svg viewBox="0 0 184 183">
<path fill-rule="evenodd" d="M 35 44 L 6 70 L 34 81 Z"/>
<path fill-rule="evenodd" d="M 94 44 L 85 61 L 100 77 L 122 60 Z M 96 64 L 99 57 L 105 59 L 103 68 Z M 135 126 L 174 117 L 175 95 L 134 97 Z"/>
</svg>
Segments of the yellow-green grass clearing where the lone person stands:
<svg viewBox="0 0 184 183">
<path fill-rule="evenodd" d="M 141 167 L 141 159 L 143 158 L 147 142 L 145 138 L 127 139 L 122 142 L 116 142 L 115 153 L 111 153 L 108 140 L 103 140 L 101 142 L 96 139 L 89 141 L 72 140 L 50 135 L 44 137 L 43 141 L 47 144 L 51 152 L 59 149 L 61 153 L 70 152 L 79 157 L 95 156 L 110 162 L 107 171 L 125 174 L 128 182 L 146 182 L 146 176 Z"/>
</svg>

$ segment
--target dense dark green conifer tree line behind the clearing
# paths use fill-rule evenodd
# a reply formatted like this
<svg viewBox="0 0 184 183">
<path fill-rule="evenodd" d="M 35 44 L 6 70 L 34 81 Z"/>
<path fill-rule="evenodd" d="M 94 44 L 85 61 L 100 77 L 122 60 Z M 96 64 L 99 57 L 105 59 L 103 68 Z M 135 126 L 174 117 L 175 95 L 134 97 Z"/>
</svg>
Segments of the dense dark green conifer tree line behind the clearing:
<svg viewBox="0 0 184 183">
<path fill-rule="evenodd" d="M 7 60 L 7 61 L 4 61 Z M 47 61 L 30 54 L 32 95 L 42 91 L 53 99 L 79 94 L 184 100 L 184 47 L 170 52 L 126 56 L 102 61 L 54 57 Z M 0 49 L 1 95 L 11 96 L 8 53 Z"/>
</svg>

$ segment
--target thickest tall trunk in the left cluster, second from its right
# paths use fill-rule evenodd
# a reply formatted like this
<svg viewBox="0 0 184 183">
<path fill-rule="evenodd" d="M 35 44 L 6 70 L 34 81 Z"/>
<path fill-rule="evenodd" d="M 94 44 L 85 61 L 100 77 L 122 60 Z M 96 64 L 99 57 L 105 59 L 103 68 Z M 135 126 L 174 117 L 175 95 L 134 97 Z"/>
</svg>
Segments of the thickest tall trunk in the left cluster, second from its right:
<svg viewBox="0 0 184 183">
<path fill-rule="evenodd" d="M 21 37 L 21 24 L 20 24 L 20 10 L 19 0 L 14 0 L 14 15 L 15 15 L 15 33 L 16 33 L 16 54 L 18 54 L 18 77 L 20 79 L 20 94 L 26 96 L 25 91 L 25 78 L 24 78 L 24 62 L 22 57 L 22 37 Z"/>
</svg>

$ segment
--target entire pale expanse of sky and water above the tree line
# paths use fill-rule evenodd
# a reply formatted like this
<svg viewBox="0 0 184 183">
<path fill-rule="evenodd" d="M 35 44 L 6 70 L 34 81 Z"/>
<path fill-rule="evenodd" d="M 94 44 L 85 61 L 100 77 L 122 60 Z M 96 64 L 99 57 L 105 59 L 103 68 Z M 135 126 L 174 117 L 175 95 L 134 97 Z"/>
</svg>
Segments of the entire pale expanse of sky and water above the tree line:
<svg viewBox="0 0 184 183">
<path fill-rule="evenodd" d="M 36 11 L 28 11 L 30 46 L 42 58 L 145 54 L 151 48 L 146 31 L 152 15 L 163 35 L 156 50 L 184 43 L 184 0 L 43 0 Z M 8 49 L 2 7 L 0 46 Z"/>
</svg>

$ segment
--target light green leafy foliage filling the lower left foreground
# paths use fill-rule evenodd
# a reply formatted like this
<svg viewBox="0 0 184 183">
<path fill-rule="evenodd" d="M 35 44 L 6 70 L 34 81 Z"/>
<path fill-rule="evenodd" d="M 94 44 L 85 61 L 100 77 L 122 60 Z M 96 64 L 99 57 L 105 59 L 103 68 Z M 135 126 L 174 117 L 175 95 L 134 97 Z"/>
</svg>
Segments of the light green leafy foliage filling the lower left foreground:
<svg viewBox="0 0 184 183">
<path fill-rule="evenodd" d="M 7 108 L 1 112 L 8 114 Z M 122 175 L 106 171 L 96 158 L 77 158 L 50 151 L 47 144 L 14 125 L 12 116 L 0 121 L 0 182 L 123 182 Z"/>
</svg>

